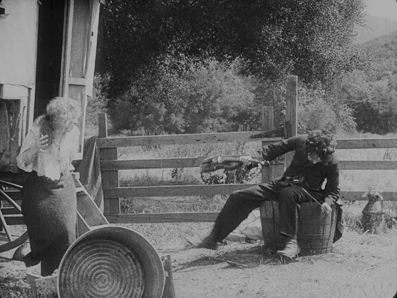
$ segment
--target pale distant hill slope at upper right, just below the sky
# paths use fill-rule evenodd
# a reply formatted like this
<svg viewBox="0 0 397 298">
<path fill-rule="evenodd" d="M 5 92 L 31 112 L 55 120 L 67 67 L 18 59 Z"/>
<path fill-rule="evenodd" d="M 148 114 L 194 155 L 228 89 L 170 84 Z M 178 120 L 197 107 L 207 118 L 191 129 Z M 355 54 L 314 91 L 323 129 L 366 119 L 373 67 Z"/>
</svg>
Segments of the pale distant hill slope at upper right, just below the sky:
<svg viewBox="0 0 397 298">
<path fill-rule="evenodd" d="M 376 37 L 397 31 L 397 21 L 378 16 L 366 16 L 365 26 L 357 27 L 355 42 L 362 44 Z"/>
</svg>

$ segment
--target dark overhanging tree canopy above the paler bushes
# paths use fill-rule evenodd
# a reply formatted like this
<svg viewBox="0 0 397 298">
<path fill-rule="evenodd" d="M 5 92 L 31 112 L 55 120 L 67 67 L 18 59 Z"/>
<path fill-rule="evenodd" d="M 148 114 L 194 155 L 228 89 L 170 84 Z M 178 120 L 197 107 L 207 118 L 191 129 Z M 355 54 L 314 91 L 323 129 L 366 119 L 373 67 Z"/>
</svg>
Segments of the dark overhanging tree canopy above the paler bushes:
<svg viewBox="0 0 397 298">
<path fill-rule="evenodd" d="M 165 53 L 240 58 L 244 73 L 259 78 L 329 82 L 361 61 L 351 40 L 363 7 L 363 0 L 108 0 L 98 69 L 110 74 L 111 98 Z"/>
</svg>

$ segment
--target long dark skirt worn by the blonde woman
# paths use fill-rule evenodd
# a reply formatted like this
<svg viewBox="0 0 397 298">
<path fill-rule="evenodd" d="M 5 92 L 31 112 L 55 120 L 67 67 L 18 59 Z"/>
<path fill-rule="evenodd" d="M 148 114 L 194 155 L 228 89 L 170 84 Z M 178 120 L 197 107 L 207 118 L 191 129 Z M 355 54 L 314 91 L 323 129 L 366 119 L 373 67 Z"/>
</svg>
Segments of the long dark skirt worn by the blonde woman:
<svg viewBox="0 0 397 298">
<path fill-rule="evenodd" d="M 27 257 L 41 262 L 43 276 L 50 275 L 76 239 L 76 188 L 72 175 L 53 181 L 32 172 L 23 186 L 21 207 L 31 243 Z"/>
</svg>

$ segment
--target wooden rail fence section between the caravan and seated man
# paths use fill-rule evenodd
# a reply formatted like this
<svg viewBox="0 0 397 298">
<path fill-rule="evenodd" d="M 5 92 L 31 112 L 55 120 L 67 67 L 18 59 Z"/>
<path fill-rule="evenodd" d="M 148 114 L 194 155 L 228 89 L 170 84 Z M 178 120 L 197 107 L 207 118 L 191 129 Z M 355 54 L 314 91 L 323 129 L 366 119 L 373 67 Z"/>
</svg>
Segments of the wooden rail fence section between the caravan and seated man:
<svg viewBox="0 0 397 298">
<path fill-rule="evenodd" d="M 106 121 L 106 115 L 100 115 L 101 122 Z M 106 127 L 102 125 L 101 127 Z M 199 167 L 206 156 L 199 157 L 174 157 L 139 160 L 118 160 L 117 147 L 148 146 L 166 144 L 203 144 L 236 141 L 265 141 L 276 142 L 282 138 L 251 139 L 250 136 L 259 133 L 230 132 L 185 134 L 146 137 L 100 138 L 101 174 L 104 191 L 104 213 L 110 222 L 182 222 L 182 221 L 213 221 L 217 212 L 197 213 L 145 213 L 145 214 L 120 214 L 121 197 L 168 197 L 168 196 L 193 196 L 228 194 L 231 191 L 243 189 L 247 184 L 224 185 L 187 185 L 187 186 L 147 186 L 147 187 L 120 187 L 119 170 L 131 169 L 163 169 L 163 168 L 190 168 Z M 284 162 L 274 165 L 284 168 Z"/>
</svg>

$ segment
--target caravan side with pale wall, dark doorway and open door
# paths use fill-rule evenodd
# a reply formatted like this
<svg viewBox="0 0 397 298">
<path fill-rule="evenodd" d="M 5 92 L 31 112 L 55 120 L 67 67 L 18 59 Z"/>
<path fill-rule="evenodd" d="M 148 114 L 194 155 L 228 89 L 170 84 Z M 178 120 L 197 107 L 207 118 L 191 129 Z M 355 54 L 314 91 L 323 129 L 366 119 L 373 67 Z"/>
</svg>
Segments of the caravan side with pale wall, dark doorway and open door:
<svg viewBox="0 0 397 298">
<path fill-rule="evenodd" d="M 24 100 L 28 125 L 21 135 L 51 98 L 76 99 L 83 110 L 77 158 L 83 152 L 86 98 L 92 95 L 99 5 L 99 0 L 0 3 L 7 13 L 0 16 L 0 99 Z"/>
</svg>

